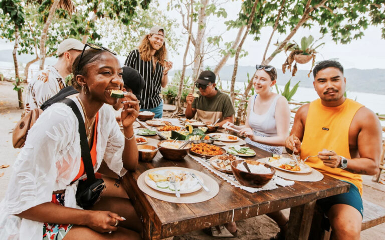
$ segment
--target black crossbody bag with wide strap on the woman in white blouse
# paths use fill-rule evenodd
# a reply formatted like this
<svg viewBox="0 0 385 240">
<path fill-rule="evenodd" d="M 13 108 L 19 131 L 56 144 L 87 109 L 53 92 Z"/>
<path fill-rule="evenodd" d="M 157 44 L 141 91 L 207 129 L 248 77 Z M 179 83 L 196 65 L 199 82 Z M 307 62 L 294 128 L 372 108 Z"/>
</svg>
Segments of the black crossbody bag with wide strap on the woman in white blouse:
<svg viewBox="0 0 385 240">
<path fill-rule="evenodd" d="M 83 117 L 79 111 L 76 103 L 70 98 L 64 98 L 60 100 L 70 106 L 74 111 L 79 121 L 79 134 L 80 134 L 80 147 L 82 149 L 82 158 L 84 163 L 84 169 L 86 170 L 87 179 L 79 180 L 78 188 L 76 190 L 76 202 L 79 206 L 87 208 L 95 204 L 105 187 L 103 179 L 96 178 L 94 167 L 92 166 L 92 159 L 90 154 L 90 148 L 88 146 L 86 128 L 84 126 Z"/>
</svg>

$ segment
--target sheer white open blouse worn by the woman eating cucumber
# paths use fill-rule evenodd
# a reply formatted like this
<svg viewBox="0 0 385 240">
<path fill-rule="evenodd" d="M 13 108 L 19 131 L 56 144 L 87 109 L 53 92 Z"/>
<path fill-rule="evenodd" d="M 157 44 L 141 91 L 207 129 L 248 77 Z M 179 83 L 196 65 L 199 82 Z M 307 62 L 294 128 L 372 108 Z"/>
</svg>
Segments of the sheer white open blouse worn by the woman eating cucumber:
<svg viewBox="0 0 385 240">
<path fill-rule="evenodd" d="M 79 101 L 72 99 L 82 109 Z M 80 112 L 83 115 L 83 111 Z M 124 136 L 115 115 L 111 107 L 104 104 L 99 110 L 94 170 L 104 159 L 111 170 L 124 175 L 123 148 Z M 70 185 L 79 172 L 80 158 L 77 117 L 68 105 L 55 103 L 39 116 L 15 160 L 6 196 L 0 203 L 0 239 L 41 240 L 43 222 L 14 214 L 50 202 L 53 191 L 66 189 L 65 206 L 81 208 L 75 199 L 78 181 Z M 84 177 L 86 174 L 81 178 Z"/>
</svg>

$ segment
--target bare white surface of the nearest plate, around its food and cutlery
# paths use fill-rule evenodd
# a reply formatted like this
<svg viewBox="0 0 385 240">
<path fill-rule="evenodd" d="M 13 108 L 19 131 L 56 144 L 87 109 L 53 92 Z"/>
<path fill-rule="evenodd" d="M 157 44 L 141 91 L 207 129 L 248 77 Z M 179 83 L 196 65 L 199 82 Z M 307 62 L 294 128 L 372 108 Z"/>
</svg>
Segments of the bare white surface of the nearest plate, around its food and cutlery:
<svg viewBox="0 0 385 240">
<path fill-rule="evenodd" d="M 154 170 L 154 171 L 151 171 L 150 173 L 158 173 L 158 174 L 162 174 L 162 175 L 167 175 L 166 172 L 168 171 L 171 171 L 171 172 L 175 172 L 176 174 L 178 173 L 181 173 L 181 172 L 188 172 L 188 171 L 184 171 L 184 170 L 179 170 L 179 169 L 161 169 L 161 170 Z M 201 181 L 203 182 L 203 179 L 200 175 L 196 174 L 200 179 Z M 193 176 L 187 174 L 186 175 L 187 179 L 188 179 L 188 182 L 186 182 L 186 184 L 182 184 L 180 185 L 180 190 L 179 190 L 179 193 L 180 194 L 184 194 L 184 193 L 190 193 L 190 192 L 195 192 L 195 191 L 198 191 L 199 189 L 202 188 L 201 184 L 199 184 L 198 180 L 195 179 Z M 151 188 L 155 189 L 155 190 L 158 190 L 158 191 L 162 191 L 162 192 L 167 192 L 167 193 L 173 193 L 175 194 L 175 191 L 169 189 L 169 188 L 160 188 L 158 186 L 156 186 L 156 182 L 153 181 L 149 176 L 148 174 L 144 177 L 144 182 Z M 178 185 L 178 182 L 176 182 L 176 185 Z"/>
</svg>

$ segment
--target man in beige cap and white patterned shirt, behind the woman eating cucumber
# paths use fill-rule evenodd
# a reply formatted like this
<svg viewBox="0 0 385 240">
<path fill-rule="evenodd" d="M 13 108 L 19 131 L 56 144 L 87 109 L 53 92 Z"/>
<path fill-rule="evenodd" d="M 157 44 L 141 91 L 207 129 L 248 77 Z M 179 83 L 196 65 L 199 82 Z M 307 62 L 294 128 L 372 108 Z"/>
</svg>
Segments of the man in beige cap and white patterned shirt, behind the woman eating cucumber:
<svg viewBox="0 0 385 240">
<path fill-rule="evenodd" d="M 66 86 L 66 77 L 72 72 L 75 58 L 82 52 L 84 44 L 74 38 L 64 39 L 58 46 L 58 61 L 53 66 L 33 75 L 28 84 L 25 113 L 40 107 L 46 100 Z"/>
</svg>

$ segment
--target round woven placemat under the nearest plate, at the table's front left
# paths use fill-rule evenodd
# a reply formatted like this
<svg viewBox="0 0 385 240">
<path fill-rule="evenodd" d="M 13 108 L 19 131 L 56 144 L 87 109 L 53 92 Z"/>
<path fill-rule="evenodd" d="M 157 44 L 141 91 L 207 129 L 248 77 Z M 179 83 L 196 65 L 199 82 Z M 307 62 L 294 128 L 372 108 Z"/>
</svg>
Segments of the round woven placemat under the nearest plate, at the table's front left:
<svg viewBox="0 0 385 240">
<path fill-rule="evenodd" d="M 205 191 L 203 187 L 195 192 L 186 193 L 186 194 L 180 194 L 180 197 L 176 197 L 175 194 L 171 193 L 165 193 L 161 191 L 157 191 L 151 187 L 149 187 L 144 182 L 144 177 L 152 171 L 161 170 L 161 169 L 178 169 L 183 171 L 189 171 L 192 173 L 195 173 L 197 175 L 200 175 L 203 179 L 203 183 L 210 189 L 209 192 Z M 215 197 L 219 192 L 219 185 L 218 183 L 209 175 L 206 175 L 205 173 L 202 173 L 200 171 L 185 168 L 185 167 L 177 167 L 177 166 L 167 166 L 167 167 L 158 167 L 158 168 L 151 168 L 140 174 L 137 180 L 138 187 L 140 190 L 142 190 L 147 195 L 154 197 L 159 200 L 168 201 L 168 202 L 175 202 L 175 203 L 197 203 L 209 200 L 213 197 Z"/>
</svg>

